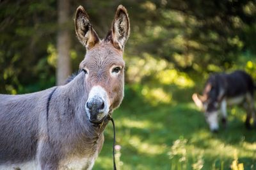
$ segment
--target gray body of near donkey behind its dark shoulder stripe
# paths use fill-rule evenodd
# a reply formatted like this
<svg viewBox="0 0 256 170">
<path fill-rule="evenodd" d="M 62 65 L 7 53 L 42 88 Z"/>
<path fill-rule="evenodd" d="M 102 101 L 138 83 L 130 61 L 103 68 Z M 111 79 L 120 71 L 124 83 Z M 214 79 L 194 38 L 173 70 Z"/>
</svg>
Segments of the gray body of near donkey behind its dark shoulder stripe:
<svg viewBox="0 0 256 170">
<path fill-rule="evenodd" d="M 0 169 L 35 159 L 51 89 L 26 95 L 0 95 Z M 46 118 L 46 116 L 45 116 Z M 1 167 L 2 166 L 2 167 Z"/>
</svg>

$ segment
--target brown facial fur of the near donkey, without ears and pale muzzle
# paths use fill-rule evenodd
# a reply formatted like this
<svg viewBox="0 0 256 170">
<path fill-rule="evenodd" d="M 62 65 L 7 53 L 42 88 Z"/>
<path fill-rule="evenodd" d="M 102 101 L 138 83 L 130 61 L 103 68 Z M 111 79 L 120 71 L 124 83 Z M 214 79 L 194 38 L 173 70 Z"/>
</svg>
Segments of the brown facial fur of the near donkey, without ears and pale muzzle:
<svg viewBox="0 0 256 170">
<path fill-rule="evenodd" d="M 80 64 L 81 69 L 88 72 L 85 84 L 88 93 L 93 86 L 102 86 L 107 92 L 111 109 L 120 105 L 124 97 L 124 67 L 122 51 L 115 49 L 110 42 L 102 41 L 88 50 L 84 60 Z M 111 68 L 120 66 L 117 76 L 111 75 Z"/>
</svg>

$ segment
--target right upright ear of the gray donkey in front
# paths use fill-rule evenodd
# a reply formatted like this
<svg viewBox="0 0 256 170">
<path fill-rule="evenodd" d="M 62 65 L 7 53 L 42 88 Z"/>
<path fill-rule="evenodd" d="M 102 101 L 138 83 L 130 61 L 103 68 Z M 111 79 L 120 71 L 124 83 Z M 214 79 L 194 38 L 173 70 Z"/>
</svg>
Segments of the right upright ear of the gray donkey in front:
<svg viewBox="0 0 256 170">
<path fill-rule="evenodd" d="M 112 42 L 117 49 L 124 50 L 124 45 L 130 35 L 130 21 L 127 10 L 120 4 L 116 10 L 112 24 Z"/>
</svg>

